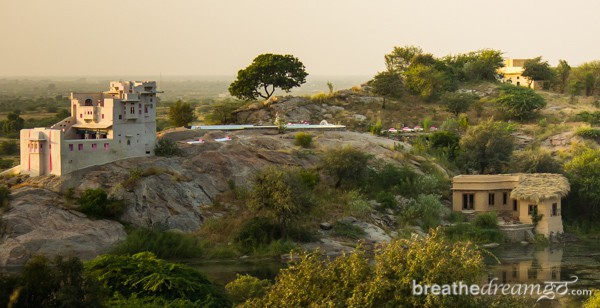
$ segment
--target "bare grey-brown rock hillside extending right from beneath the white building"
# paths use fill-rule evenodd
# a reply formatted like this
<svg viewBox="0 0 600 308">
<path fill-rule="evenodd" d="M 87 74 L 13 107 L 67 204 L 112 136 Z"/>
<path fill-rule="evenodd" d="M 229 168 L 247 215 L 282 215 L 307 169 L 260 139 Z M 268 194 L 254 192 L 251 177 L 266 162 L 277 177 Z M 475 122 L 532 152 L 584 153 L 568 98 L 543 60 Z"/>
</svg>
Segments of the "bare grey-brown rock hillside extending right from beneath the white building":
<svg viewBox="0 0 600 308">
<path fill-rule="evenodd" d="M 228 142 L 212 141 L 230 136 Z M 313 166 L 319 151 L 347 145 L 376 158 L 398 161 L 395 149 L 408 145 L 356 132 L 314 132 L 317 148 L 293 145 L 294 133 L 275 131 L 210 132 L 177 129 L 162 135 L 175 140 L 202 137 L 204 144 L 180 142 L 181 157 L 127 159 L 80 170 L 62 177 L 10 178 L 10 210 L 1 219 L 0 266 L 24 264 L 34 254 L 76 255 L 89 259 L 126 237 L 123 224 L 184 232 L 198 230 L 205 219 L 218 217 L 215 198 L 246 185 L 266 165 Z M 406 154 L 408 155 L 408 154 Z M 402 159 L 405 159 L 403 157 Z M 411 158 L 417 169 L 421 157 Z M 439 167 L 443 170 L 443 168 Z M 138 176 L 132 176 L 138 174 Z M 102 188 L 127 207 L 120 222 L 92 220 L 74 210 L 73 198 Z M 226 210 L 225 204 L 224 210 Z"/>
</svg>

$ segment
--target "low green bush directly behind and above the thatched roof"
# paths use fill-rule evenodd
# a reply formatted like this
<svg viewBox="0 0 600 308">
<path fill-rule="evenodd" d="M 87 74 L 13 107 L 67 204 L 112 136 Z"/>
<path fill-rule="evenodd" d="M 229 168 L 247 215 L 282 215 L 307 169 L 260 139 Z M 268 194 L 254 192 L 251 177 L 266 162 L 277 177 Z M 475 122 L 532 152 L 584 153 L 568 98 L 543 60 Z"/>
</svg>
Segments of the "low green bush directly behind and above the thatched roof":
<svg viewBox="0 0 600 308">
<path fill-rule="evenodd" d="M 511 171 L 523 173 L 562 173 L 563 165 L 543 149 L 515 152 L 511 159 Z"/>
</svg>

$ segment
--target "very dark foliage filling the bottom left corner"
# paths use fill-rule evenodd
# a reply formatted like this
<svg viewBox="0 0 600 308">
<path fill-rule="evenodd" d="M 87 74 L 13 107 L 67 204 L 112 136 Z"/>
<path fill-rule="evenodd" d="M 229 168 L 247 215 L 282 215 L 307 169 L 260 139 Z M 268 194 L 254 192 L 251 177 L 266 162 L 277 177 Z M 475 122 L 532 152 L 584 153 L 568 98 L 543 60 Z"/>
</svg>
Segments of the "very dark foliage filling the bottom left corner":
<svg viewBox="0 0 600 308">
<path fill-rule="evenodd" d="M 7 307 L 101 307 L 101 286 L 75 258 L 31 258 L 15 277 L 0 277 L 0 304 Z M 11 304 L 8 304 L 11 302 Z"/>
</svg>

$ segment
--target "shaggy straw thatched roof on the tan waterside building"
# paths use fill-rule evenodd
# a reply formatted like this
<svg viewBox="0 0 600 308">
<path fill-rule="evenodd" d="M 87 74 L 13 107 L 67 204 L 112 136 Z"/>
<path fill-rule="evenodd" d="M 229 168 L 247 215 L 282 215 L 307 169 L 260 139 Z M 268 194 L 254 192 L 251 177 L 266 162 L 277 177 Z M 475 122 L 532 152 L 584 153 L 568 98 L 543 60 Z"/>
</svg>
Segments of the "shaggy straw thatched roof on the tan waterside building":
<svg viewBox="0 0 600 308">
<path fill-rule="evenodd" d="M 562 198 L 571 190 L 569 181 L 560 174 L 519 174 L 519 184 L 510 193 L 513 199 L 540 202 L 551 198 Z"/>
</svg>

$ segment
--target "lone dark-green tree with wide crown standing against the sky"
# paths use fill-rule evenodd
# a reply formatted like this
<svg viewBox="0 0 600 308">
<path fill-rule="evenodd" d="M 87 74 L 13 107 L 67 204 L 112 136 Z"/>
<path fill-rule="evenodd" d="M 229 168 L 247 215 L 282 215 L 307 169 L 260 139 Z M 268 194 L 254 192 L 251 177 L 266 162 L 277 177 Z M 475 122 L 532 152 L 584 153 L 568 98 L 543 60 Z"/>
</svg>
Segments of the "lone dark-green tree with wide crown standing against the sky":
<svg viewBox="0 0 600 308">
<path fill-rule="evenodd" d="M 262 54 L 248 67 L 238 71 L 229 93 L 239 99 L 268 99 L 280 88 L 286 92 L 306 82 L 304 64 L 292 55 Z"/>
</svg>

